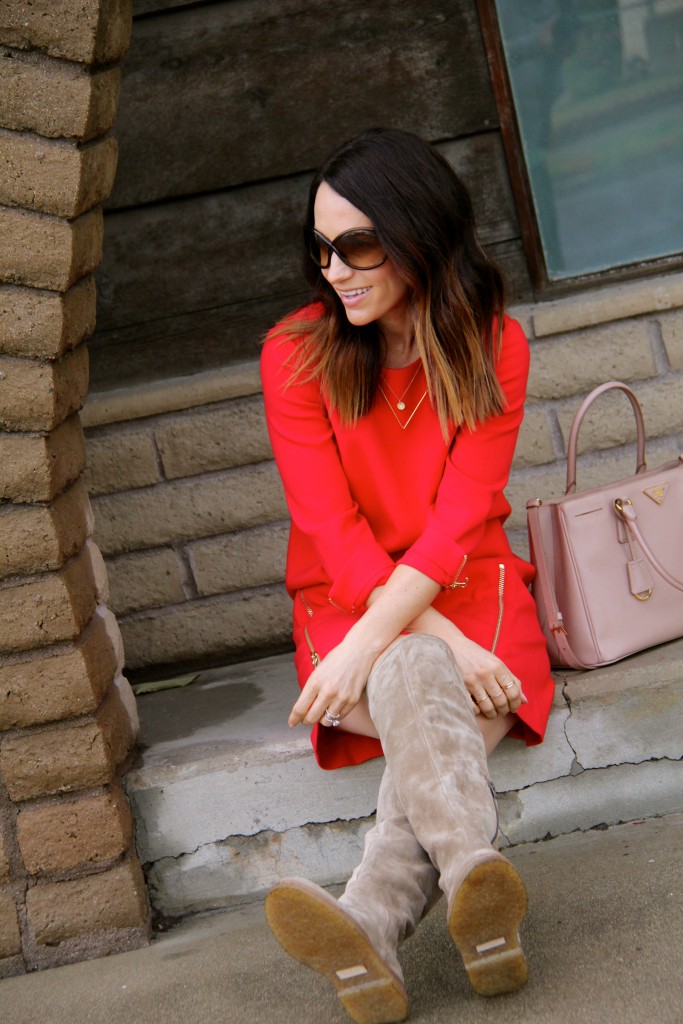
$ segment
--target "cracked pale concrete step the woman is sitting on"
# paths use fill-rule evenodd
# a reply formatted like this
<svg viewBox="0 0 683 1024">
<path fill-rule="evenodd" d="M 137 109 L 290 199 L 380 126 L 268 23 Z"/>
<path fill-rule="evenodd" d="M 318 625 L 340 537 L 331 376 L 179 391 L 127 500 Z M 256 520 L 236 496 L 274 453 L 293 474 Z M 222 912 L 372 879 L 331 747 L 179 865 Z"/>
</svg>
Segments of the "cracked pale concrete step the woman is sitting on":
<svg viewBox="0 0 683 1024">
<path fill-rule="evenodd" d="M 290 730 L 290 655 L 140 696 L 126 786 L 158 912 L 263 896 L 279 878 L 344 882 L 373 823 L 383 762 L 322 771 Z M 683 811 L 683 640 L 590 673 L 556 674 L 545 742 L 492 758 L 502 847 Z"/>
</svg>

